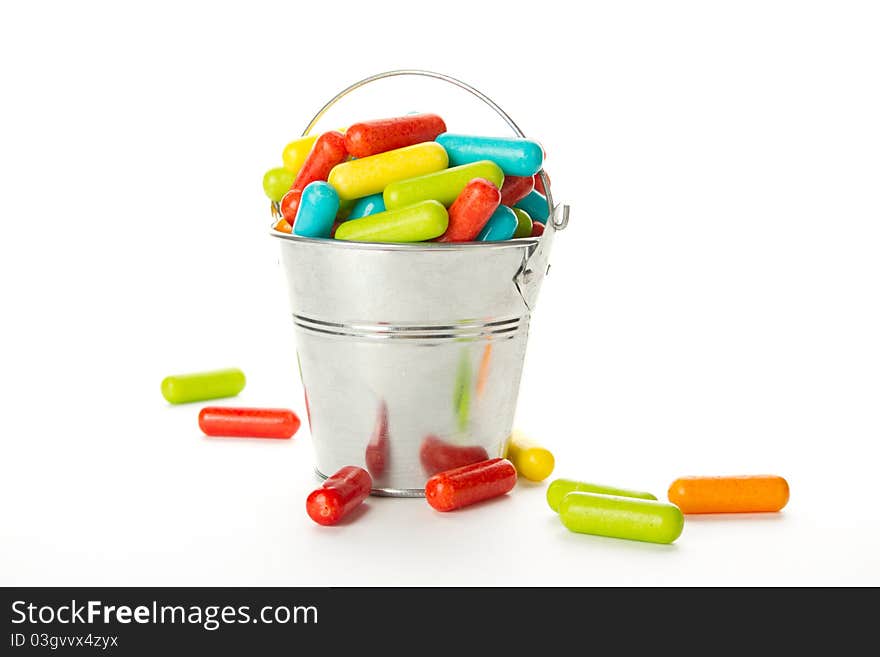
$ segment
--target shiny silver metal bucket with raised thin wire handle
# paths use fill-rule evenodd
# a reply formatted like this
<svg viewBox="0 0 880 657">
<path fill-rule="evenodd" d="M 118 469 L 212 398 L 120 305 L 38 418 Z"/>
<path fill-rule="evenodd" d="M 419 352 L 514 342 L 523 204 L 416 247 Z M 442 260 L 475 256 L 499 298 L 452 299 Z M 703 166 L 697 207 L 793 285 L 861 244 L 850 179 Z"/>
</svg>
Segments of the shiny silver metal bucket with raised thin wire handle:
<svg viewBox="0 0 880 657">
<path fill-rule="evenodd" d="M 429 71 L 390 71 L 374 80 Z M 543 172 L 541 174 L 544 175 Z M 373 493 L 424 494 L 440 469 L 502 456 L 513 424 L 529 318 L 568 206 L 544 235 L 505 242 L 375 244 L 272 231 L 281 244 L 300 376 L 315 450 L 327 477 L 365 467 Z"/>
</svg>

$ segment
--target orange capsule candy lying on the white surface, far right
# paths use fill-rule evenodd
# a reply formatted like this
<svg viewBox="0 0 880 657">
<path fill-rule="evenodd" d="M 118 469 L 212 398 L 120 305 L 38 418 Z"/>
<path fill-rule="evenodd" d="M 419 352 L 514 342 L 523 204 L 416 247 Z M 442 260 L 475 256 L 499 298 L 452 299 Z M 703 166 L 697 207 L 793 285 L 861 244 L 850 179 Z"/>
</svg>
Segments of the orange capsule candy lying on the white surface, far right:
<svg viewBox="0 0 880 657">
<path fill-rule="evenodd" d="M 669 501 L 684 513 L 763 513 L 788 503 L 788 482 L 775 475 L 682 477 L 669 487 Z"/>
</svg>

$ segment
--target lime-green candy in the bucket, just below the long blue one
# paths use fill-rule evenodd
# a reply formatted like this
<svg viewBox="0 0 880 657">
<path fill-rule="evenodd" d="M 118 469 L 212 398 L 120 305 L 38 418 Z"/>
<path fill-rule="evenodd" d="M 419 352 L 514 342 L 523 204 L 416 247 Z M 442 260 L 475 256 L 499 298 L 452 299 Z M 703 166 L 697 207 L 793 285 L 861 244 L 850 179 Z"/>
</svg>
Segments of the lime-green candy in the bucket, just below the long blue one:
<svg viewBox="0 0 880 657">
<path fill-rule="evenodd" d="M 438 148 L 442 147 L 438 146 Z M 383 157 L 383 155 L 373 157 Z M 385 198 L 385 207 L 389 210 L 428 199 L 439 201 L 448 207 L 458 198 L 465 185 L 474 178 L 485 178 L 499 189 L 504 184 L 504 173 L 498 165 L 484 161 L 392 182 L 385 188 L 382 196 Z"/>
</svg>

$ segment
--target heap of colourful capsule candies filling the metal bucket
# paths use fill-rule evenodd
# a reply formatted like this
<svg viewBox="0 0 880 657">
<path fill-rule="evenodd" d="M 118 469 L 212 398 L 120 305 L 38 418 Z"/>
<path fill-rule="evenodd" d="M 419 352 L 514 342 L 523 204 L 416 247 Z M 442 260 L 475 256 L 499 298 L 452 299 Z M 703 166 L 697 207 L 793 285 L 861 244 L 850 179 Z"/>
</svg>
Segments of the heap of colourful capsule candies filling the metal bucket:
<svg viewBox="0 0 880 657">
<path fill-rule="evenodd" d="M 282 160 L 263 190 L 275 230 L 301 237 L 489 242 L 540 237 L 550 216 L 538 142 L 453 134 L 436 114 L 303 137 Z"/>
</svg>

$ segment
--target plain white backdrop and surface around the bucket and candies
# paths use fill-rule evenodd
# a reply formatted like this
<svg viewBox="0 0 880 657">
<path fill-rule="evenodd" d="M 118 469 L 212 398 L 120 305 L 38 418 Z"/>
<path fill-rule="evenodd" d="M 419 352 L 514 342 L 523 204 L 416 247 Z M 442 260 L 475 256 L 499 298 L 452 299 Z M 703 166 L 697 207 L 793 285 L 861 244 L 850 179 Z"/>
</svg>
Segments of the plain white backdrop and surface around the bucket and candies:
<svg viewBox="0 0 880 657">
<path fill-rule="evenodd" d="M 0 10 L 0 584 L 880 584 L 875 3 L 229 5 Z M 232 365 L 305 416 L 261 177 L 401 67 L 497 100 L 572 206 L 517 419 L 556 474 L 777 473 L 783 513 L 656 546 L 521 484 L 321 528 L 307 427 L 209 440 L 165 403 Z"/>
</svg>

